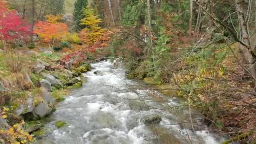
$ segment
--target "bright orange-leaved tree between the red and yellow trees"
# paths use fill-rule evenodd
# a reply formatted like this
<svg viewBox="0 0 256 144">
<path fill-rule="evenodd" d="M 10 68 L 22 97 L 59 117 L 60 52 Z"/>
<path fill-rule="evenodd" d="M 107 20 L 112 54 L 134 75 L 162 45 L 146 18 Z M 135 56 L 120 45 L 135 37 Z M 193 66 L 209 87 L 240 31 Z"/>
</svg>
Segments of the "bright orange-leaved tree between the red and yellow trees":
<svg viewBox="0 0 256 144">
<path fill-rule="evenodd" d="M 34 32 L 42 37 L 52 47 L 56 40 L 60 40 L 67 33 L 67 24 L 58 22 L 59 15 L 47 15 L 46 21 L 38 21 Z"/>
</svg>

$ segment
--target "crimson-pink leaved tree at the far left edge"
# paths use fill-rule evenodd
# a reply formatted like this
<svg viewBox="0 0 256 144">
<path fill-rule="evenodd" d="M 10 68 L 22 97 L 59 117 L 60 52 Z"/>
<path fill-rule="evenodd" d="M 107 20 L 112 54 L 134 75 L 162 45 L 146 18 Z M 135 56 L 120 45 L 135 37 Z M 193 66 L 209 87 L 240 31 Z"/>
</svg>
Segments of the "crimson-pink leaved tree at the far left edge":
<svg viewBox="0 0 256 144">
<path fill-rule="evenodd" d="M 29 25 L 19 17 L 17 11 L 10 10 L 4 1 L 0 1 L 0 40 L 4 51 L 6 51 L 6 40 L 26 37 L 30 33 Z"/>
</svg>

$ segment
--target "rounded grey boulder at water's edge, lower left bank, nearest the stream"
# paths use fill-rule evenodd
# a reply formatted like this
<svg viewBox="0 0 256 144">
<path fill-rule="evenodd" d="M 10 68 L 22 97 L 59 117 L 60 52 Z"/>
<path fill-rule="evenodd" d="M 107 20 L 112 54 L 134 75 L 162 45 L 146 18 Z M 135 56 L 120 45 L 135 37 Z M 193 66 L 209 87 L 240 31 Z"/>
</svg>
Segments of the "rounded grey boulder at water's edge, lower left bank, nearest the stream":
<svg viewBox="0 0 256 144">
<path fill-rule="evenodd" d="M 46 102 L 40 102 L 39 104 L 37 104 L 37 106 L 33 110 L 33 115 L 35 117 L 43 118 L 46 115 L 50 115 L 51 114 L 52 107 L 53 106 L 51 104 L 47 104 Z"/>
</svg>

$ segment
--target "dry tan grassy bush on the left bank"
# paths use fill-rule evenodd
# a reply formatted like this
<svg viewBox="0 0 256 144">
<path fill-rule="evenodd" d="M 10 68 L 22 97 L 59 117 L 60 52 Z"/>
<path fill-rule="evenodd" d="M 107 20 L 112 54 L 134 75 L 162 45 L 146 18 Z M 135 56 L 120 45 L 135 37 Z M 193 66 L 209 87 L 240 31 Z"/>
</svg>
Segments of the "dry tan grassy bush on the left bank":
<svg viewBox="0 0 256 144">
<path fill-rule="evenodd" d="M 13 73 L 21 72 L 27 66 L 27 59 L 15 51 L 5 53 L 5 62 L 8 69 Z"/>
</svg>

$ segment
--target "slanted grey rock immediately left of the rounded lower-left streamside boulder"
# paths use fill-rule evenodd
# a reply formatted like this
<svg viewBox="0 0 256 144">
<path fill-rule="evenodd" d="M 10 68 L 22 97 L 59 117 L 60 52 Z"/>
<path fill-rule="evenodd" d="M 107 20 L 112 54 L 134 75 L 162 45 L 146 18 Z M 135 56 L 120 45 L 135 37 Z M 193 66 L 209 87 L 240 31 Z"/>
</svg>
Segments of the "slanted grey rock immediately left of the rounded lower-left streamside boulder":
<svg viewBox="0 0 256 144">
<path fill-rule="evenodd" d="M 35 108 L 35 107 L 34 107 L 34 101 L 33 101 L 32 97 L 29 97 L 29 98 L 27 99 L 26 104 L 21 104 L 21 105 L 19 106 L 19 108 L 17 108 L 17 109 L 15 110 L 15 114 L 16 114 L 17 116 L 19 116 L 19 115 L 21 115 L 21 114 L 25 114 L 25 113 L 28 113 L 28 112 L 32 112 L 34 108 Z"/>
</svg>

